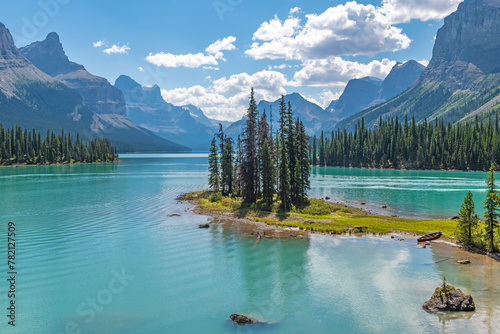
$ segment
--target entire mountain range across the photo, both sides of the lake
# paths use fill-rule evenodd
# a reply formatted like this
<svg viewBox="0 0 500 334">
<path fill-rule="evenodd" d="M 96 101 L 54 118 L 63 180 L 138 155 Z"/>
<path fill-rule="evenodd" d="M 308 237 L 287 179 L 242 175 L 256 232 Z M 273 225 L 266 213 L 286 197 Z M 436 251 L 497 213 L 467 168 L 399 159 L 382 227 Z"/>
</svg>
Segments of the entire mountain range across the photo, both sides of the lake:
<svg viewBox="0 0 500 334">
<path fill-rule="evenodd" d="M 310 135 L 352 130 L 361 118 L 373 127 L 380 117 L 451 123 L 488 117 L 500 109 L 498 22 L 500 0 L 465 0 L 438 30 L 427 67 L 409 60 L 383 80 L 354 78 L 325 109 L 298 93 L 285 101 Z M 258 103 L 274 128 L 280 100 Z M 237 137 L 245 118 L 211 119 L 196 106 L 168 103 L 157 85 L 143 87 L 125 75 L 112 85 L 72 62 L 57 33 L 17 49 L 0 23 L 0 123 L 108 137 L 120 152 L 178 152 L 206 151 L 219 123 Z"/>
</svg>

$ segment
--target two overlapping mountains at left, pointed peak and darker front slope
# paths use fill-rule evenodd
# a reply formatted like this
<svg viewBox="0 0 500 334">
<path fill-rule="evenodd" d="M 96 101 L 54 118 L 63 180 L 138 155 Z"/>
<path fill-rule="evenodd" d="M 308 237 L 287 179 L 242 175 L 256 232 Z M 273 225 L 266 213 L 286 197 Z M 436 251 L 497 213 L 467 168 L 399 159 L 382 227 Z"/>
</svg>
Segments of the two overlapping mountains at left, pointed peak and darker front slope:
<svg viewBox="0 0 500 334">
<path fill-rule="evenodd" d="M 51 33 L 45 41 L 31 44 L 22 51 L 15 46 L 9 30 L 0 23 L 0 123 L 3 126 L 19 125 L 56 132 L 64 128 L 80 133 L 84 139 L 107 137 L 120 152 L 190 150 L 138 127 L 122 114 L 124 104 L 103 103 L 118 113 L 100 114 L 104 109 L 96 105 L 103 101 L 98 98 L 102 90 L 90 89 L 87 88 L 90 85 L 85 87 L 85 83 L 77 82 L 81 77 L 84 79 L 80 82 L 93 79 L 105 84 L 105 79 L 92 76 L 83 66 L 69 62 L 57 34 Z M 76 87 L 81 87 L 82 93 Z M 114 94 L 120 96 L 121 92 Z"/>
</svg>

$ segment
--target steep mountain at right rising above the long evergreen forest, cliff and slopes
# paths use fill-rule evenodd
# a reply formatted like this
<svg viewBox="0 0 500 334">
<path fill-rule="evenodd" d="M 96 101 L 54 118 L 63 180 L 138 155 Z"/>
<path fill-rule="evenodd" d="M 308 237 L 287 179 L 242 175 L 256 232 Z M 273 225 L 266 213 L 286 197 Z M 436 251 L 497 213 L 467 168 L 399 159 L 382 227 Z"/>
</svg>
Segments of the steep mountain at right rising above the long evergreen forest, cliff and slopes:
<svg viewBox="0 0 500 334">
<path fill-rule="evenodd" d="M 395 98 L 361 111 L 338 126 L 352 129 L 380 116 L 442 118 L 458 122 L 487 117 L 500 99 L 500 0 L 465 0 L 438 30 L 432 59 L 418 83 Z"/>
</svg>

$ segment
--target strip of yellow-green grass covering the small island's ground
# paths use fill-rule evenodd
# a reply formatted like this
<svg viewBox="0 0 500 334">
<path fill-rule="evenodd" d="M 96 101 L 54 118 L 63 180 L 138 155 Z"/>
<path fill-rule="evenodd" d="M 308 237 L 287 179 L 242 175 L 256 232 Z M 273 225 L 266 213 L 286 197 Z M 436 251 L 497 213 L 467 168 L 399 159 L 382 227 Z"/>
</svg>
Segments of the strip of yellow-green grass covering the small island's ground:
<svg viewBox="0 0 500 334">
<path fill-rule="evenodd" d="M 308 203 L 292 207 L 290 211 L 280 210 L 279 203 L 267 207 L 265 203 L 243 203 L 241 197 L 219 196 L 211 192 L 196 192 L 184 195 L 186 199 L 197 200 L 203 209 L 231 214 L 240 218 L 263 221 L 268 225 L 298 227 L 302 230 L 319 232 L 357 231 L 358 226 L 366 226 L 363 231 L 374 234 L 408 232 L 427 234 L 443 231 L 443 237 L 451 239 L 455 234 L 456 221 L 406 219 L 371 215 L 367 212 L 311 198 Z"/>
</svg>

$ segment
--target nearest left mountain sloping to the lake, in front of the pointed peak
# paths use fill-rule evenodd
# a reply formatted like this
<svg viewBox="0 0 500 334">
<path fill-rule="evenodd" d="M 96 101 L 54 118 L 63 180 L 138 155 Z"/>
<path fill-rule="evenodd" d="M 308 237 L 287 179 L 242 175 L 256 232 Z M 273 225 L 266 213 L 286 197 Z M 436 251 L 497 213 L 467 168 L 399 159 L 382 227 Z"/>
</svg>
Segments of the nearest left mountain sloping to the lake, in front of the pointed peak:
<svg viewBox="0 0 500 334">
<path fill-rule="evenodd" d="M 75 90 L 35 67 L 23 57 L 9 30 L 0 23 L 0 124 L 38 131 L 62 128 L 90 140 L 108 137 L 121 152 L 182 151 L 188 148 L 156 137 L 120 115 L 99 115 L 84 105 Z M 134 138 L 131 143 L 130 138 Z"/>
</svg>

